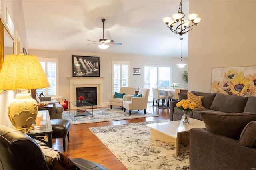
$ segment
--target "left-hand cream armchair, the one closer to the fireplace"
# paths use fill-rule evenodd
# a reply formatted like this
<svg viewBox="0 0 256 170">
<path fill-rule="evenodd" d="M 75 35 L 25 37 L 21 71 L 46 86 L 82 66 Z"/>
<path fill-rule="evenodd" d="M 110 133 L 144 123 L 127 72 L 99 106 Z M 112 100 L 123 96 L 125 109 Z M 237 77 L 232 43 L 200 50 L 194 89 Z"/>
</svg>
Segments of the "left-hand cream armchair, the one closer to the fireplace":
<svg viewBox="0 0 256 170">
<path fill-rule="evenodd" d="M 121 98 L 116 98 L 115 94 L 111 95 L 111 98 L 109 99 L 111 109 L 113 108 L 113 105 L 115 105 L 122 107 L 121 109 L 123 110 L 123 101 L 126 100 L 127 95 L 134 95 L 134 87 L 121 87 L 119 93 L 124 93 L 124 95 Z"/>
</svg>

